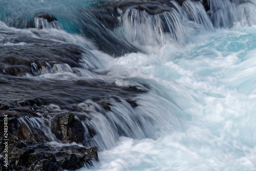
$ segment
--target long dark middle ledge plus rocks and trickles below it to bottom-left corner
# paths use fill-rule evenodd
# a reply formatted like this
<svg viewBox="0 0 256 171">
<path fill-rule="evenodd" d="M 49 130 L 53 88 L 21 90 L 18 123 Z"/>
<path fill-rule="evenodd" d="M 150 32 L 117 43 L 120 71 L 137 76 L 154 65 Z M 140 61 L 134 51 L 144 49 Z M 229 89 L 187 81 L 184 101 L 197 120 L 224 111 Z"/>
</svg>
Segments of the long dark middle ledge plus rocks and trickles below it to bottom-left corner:
<svg viewBox="0 0 256 171">
<path fill-rule="evenodd" d="M 105 115 L 113 110 L 113 102 L 123 100 L 136 108 L 133 97 L 149 89 L 146 85 L 120 88 L 99 80 L 58 83 L 50 79 L 40 82 L 27 77 L 0 76 L 0 149 L 4 151 L 4 115 L 8 115 L 9 170 L 76 169 L 98 161 L 97 147 L 60 147 L 49 142 L 92 146 L 92 138 L 98 133 L 91 124 L 83 125 L 91 120 L 90 109 Z M 84 97 L 92 103 L 85 102 Z M 65 112 L 68 110 L 74 112 Z M 0 161 L 3 163 L 3 158 Z"/>
</svg>

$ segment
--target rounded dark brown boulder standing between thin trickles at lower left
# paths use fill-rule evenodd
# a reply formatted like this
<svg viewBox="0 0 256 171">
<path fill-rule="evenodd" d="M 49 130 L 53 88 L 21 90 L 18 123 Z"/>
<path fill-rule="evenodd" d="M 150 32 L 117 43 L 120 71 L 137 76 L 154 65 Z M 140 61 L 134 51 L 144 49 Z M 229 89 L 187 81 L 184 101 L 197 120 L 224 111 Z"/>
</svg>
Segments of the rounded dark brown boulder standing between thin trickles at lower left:
<svg viewBox="0 0 256 171">
<path fill-rule="evenodd" d="M 56 115 L 52 120 L 51 131 L 59 140 L 82 143 L 84 139 L 84 127 L 75 119 L 73 113 Z"/>
</svg>

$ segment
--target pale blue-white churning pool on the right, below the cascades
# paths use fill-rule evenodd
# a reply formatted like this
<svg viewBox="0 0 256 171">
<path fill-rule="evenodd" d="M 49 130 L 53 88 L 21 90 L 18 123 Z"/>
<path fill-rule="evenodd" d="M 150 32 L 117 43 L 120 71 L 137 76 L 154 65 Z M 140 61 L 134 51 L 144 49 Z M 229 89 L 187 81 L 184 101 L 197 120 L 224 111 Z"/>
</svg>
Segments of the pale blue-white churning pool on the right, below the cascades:
<svg viewBox="0 0 256 171">
<path fill-rule="evenodd" d="M 255 35 L 254 26 L 217 29 L 185 46 L 114 59 L 111 66 L 152 82 L 167 100 L 148 108 L 178 122 L 166 121 L 156 140 L 120 137 L 91 170 L 255 170 Z"/>
</svg>

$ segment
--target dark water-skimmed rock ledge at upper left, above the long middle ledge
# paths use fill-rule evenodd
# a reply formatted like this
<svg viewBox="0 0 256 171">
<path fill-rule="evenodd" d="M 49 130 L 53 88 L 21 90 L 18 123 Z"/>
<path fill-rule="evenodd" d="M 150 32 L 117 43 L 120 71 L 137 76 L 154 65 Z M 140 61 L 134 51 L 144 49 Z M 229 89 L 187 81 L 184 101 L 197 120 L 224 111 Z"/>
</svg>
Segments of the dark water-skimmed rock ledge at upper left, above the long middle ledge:
<svg viewBox="0 0 256 171">
<path fill-rule="evenodd" d="M 0 73 L 6 75 L 40 75 L 41 70 L 51 72 L 50 70 L 56 63 L 81 67 L 82 54 L 88 57 L 92 55 L 79 46 L 60 44 L 52 40 L 13 36 L 8 41 L 14 44 L 25 42 L 27 45 L 1 47 L 0 56 L 4 57 L 0 58 Z"/>
</svg>

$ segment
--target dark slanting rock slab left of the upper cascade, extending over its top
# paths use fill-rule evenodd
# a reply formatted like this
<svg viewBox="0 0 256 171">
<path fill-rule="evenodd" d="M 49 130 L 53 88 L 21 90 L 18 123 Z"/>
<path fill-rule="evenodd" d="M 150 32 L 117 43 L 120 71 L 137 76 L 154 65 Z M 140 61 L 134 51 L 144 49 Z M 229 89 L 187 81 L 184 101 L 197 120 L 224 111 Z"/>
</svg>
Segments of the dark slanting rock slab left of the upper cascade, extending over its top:
<svg viewBox="0 0 256 171">
<path fill-rule="evenodd" d="M 173 2 L 182 6 L 184 0 L 90 1 L 88 2 L 90 4 L 89 7 L 78 8 L 81 21 L 77 24 L 78 30 L 80 30 L 81 34 L 93 39 L 99 50 L 114 57 L 122 56 L 126 53 L 144 52 L 142 49 L 130 44 L 124 37 L 118 36 L 114 31 L 115 28 L 122 25 L 121 18 L 125 11 L 129 9 L 137 9 L 150 15 L 157 15 L 176 8 Z"/>
</svg>

